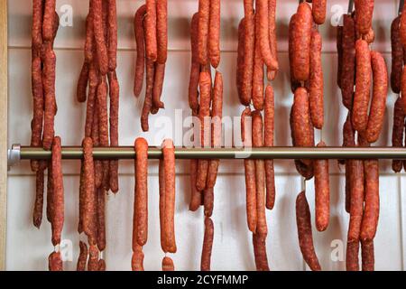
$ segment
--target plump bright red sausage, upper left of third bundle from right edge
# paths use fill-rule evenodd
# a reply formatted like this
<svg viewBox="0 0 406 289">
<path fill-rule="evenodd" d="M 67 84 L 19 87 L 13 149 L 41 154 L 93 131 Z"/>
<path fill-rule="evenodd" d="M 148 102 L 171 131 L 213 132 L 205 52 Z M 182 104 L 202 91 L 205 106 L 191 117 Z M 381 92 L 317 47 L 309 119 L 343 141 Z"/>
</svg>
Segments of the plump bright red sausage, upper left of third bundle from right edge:
<svg viewBox="0 0 406 289">
<path fill-rule="evenodd" d="M 293 39 L 293 77 L 299 81 L 309 79 L 310 73 L 310 41 L 312 28 L 312 15 L 310 6 L 302 2 L 296 14 L 298 24 L 295 25 L 295 38 Z"/>
</svg>

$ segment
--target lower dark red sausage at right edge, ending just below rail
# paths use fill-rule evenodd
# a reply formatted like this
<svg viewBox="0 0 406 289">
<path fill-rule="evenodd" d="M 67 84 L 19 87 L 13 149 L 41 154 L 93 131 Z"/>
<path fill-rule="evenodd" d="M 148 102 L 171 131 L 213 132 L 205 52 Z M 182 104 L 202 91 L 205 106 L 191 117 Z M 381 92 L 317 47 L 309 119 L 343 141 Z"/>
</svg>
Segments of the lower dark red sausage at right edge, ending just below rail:
<svg viewBox="0 0 406 289">
<path fill-rule="evenodd" d="M 404 112 L 401 97 L 396 99 L 393 109 L 393 126 L 392 126 L 392 146 L 402 147 L 404 139 Z M 393 160 L 392 170 L 393 172 L 401 172 L 403 167 L 403 161 Z"/>
</svg>

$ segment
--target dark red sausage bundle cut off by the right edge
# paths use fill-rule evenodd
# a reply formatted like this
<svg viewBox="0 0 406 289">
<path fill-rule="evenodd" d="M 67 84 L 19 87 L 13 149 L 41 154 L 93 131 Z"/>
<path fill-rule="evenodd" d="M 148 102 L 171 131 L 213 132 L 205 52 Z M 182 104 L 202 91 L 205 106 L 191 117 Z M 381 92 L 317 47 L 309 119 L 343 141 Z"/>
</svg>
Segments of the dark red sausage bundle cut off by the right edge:
<svg viewBox="0 0 406 289">
<path fill-rule="evenodd" d="M 391 43 L 392 43 L 392 72 L 391 72 L 391 87 L 392 91 L 400 94 L 397 98 L 393 110 L 393 126 L 392 126 L 392 146 L 404 146 L 404 130 L 406 116 L 406 101 L 403 95 L 406 93 L 406 70 L 404 70 L 404 62 L 406 59 L 406 14 L 405 7 L 402 8 L 402 13 L 396 17 L 391 25 Z M 401 172 L 401 169 L 406 167 L 406 162 L 401 160 L 393 160 L 392 170 Z"/>
</svg>

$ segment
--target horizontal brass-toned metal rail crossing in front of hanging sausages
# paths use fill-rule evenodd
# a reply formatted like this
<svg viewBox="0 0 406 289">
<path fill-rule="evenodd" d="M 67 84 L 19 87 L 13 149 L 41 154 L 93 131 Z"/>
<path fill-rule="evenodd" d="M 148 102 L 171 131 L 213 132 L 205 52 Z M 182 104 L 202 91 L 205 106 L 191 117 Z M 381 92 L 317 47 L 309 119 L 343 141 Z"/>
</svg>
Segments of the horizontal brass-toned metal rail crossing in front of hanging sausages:
<svg viewBox="0 0 406 289">
<path fill-rule="evenodd" d="M 95 147 L 96 159 L 134 159 L 133 146 Z M 62 147 L 63 159 L 81 159 L 80 146 Z M 291 147 L 260 148 L 185 148 L 176 147 L 177 159 L 406 159 L 406 148 L 398 147 Z M 46 160 L 51 152 L 42 148 L 21 146 L 20 159 Z M 150 147 L 148 158 L 160 159 L 161 148 Z"/>
</svg>

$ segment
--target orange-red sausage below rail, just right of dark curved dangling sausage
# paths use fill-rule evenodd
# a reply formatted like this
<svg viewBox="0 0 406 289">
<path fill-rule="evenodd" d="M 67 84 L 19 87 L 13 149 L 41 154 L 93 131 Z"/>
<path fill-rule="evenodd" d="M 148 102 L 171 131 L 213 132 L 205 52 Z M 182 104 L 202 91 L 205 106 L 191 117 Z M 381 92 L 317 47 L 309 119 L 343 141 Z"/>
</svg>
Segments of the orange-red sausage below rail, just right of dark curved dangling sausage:
<svg viewBox="0 0 406 289">
<path fill-rule="evenodd" d="M 318 147 L 326 144 L 321 141 Z M 316 228 L 324 231 L 328 228 L 330 218 L 330 182 L 328 175 L 328 160 L 314 161 L 314 183 L 316 195 Z"/>
</svg>

